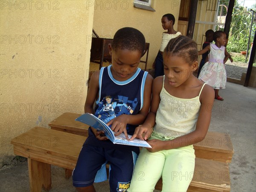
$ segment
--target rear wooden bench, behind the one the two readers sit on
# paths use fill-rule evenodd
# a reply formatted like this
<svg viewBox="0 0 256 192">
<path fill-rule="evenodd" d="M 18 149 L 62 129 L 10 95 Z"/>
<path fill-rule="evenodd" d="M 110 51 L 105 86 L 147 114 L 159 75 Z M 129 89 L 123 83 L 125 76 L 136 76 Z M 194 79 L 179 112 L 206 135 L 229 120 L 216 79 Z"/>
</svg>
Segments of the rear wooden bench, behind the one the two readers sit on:
<svg viewBox="0 0 256 192">
<path fill-rule="evenodd" d="M 51 129 L 88 137 L 88 125 L 77 122 L 78 113 L 63 113 L 49 123 Z M 194 144 L 195 156 L 203 159 L 231 163 L 234 153 L 230 136 L 225 133 L 208 131 L 205 139 Z"/>
</svg>

